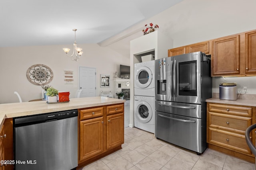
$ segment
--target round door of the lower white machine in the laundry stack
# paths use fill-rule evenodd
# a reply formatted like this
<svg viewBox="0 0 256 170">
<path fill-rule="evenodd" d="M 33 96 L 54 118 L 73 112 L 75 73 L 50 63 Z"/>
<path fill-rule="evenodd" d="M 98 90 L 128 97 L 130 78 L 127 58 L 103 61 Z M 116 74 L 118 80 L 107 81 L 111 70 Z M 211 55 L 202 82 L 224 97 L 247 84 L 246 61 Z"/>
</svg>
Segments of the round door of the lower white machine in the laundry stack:
<svg viewBox="0 0 256 170">
<path fill-rule="evenodd" d="M 136 108 L 136 117 L 141 123 L 147 123 L 152 119 L 152 108 L 147 102 L 141 101 Z"/>
</svg>

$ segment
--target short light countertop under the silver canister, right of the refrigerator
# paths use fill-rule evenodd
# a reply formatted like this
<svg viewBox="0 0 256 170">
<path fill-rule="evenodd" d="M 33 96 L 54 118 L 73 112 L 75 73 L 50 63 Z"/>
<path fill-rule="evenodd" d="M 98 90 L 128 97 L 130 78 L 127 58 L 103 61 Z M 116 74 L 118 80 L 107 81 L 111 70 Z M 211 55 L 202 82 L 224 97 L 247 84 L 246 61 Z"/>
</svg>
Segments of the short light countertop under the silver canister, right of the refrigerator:
<svg viewBox="0 0 256 170">
<path fill-rule="evenodd" d="M 256 107 L 256 100 L 238 99 L 238 100 L 220 100 L 218 98 L 206 99 L 206 102 L 220 103 L 220 104 L 234 104 L 243 106 L 254 106 Z"/>
</svg>

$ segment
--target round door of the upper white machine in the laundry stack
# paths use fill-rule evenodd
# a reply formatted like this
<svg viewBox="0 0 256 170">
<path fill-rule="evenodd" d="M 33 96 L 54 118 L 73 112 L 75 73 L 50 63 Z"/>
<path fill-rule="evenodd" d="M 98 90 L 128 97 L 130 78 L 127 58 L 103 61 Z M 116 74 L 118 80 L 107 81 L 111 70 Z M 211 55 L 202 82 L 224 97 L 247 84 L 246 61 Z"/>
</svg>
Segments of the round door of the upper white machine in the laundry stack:
<svg viewBox="0 0 256 170">
<path fill-rule="evenodd" d="M 141 67 L 137 70 L 136 85 L 139 88 L 146 88 L 152 83 L 152 72 L 148 67 Z"/>
</svg>

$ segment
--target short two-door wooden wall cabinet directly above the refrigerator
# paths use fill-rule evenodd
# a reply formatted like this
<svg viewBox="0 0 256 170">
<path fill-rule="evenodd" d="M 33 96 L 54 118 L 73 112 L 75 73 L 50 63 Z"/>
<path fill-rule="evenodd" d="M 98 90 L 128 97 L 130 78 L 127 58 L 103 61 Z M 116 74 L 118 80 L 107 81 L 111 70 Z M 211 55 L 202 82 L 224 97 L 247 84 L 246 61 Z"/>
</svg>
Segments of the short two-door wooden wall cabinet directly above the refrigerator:
<svg viewBox="0 0 256 170">
<path fill-rule="evenodd" d="M 202 51 L 206 54 L 209 54 L 210 53 L 210 43 L 211 43 L 210 41 L 204 41 L 204 42 L 200 42 L 200 43 L 177 47 L 174 49 L 168 49 L 168 57 L 187 54 L 187 53 L 194 53 L 197 51 Z"/>
</svg>

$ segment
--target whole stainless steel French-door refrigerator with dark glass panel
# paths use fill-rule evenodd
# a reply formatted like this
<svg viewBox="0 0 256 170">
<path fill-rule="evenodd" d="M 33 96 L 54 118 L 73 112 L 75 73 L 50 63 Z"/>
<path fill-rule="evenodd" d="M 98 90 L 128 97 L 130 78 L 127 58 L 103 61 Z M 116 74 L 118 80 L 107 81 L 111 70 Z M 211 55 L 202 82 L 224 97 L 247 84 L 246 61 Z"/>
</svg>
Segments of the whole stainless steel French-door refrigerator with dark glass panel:
<svg viewBox="0 0 256 170">
<path fill-rule="evenodd" d="M 207 147 L 205 100 L 212 97 L 210 57 L 195 52 L 155 62 L 155 135 L 201 154 Z"/>
</svg>

